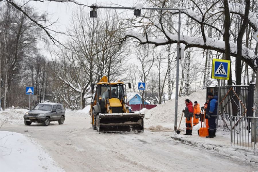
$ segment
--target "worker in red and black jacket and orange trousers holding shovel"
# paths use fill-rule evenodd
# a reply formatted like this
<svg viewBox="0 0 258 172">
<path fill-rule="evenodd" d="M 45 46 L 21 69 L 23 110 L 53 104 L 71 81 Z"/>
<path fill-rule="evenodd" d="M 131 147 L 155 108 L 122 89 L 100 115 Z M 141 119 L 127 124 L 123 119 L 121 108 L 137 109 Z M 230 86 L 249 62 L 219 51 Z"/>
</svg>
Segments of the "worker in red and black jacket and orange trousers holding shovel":
<svg viewBox="0 0 258 172">
<path fill-rule="evenodd" d="M 184 135 L 192 135 L 192 117 L 193 117 L 193 103 L 189 99 L 185 99 L 185 126 L 186 126 L 186 133 Z"/>
</svg>

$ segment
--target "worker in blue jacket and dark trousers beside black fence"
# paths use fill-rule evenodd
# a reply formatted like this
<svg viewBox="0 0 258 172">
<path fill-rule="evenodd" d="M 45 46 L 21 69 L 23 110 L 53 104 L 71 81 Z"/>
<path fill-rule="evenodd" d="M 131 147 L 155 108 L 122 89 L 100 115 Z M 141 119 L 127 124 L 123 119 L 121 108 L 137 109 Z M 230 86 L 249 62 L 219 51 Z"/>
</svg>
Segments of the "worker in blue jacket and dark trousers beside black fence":
<svg viewBox="0 0 258 172">
<path fill-rule="evenodd" d="M 209 136 L 206 136 L 206 138 L 213 138 L 216 133 L 218 96 L 213 96 L 212 92 L 208 92 L 207 96 L 209 99 L 209 103 L 206 109 L 206 116 L 208 117 L 209 122 Z"/>
</svg>

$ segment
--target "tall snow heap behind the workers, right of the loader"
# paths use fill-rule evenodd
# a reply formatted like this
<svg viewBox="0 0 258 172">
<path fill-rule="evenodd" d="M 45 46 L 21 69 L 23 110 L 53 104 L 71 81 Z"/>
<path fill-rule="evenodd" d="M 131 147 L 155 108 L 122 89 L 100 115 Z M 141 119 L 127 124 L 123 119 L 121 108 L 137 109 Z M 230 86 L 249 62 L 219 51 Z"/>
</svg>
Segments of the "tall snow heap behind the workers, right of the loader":
<svg viewBox="0 0 258 172">
<path fill-rule="evenodd" d="M 197 101 L 200 107 L 206 102 L 206 90 L 200 90 L 194 92 L 189 96 L 178 97 L 177 107 L 177 126 L 179 125 L 182 110 L 185 109 L 185 99 L 190 99 L 192 103 Z M 161 125 L 165 128 L 174 128 L 175 121 L 175 98 L 167 101 L 161 105 L 156 106 L 153 109 L 145 111 L 144 126 L 145 128 Z M 200 124 L 199 124 L 200 125 Z M 193 130 L 198 130 L 200 126 L 195 126 Z M 182 118 L 180 128 L 183 129 L 185 126 L 185 117 Z"/>
</svg>

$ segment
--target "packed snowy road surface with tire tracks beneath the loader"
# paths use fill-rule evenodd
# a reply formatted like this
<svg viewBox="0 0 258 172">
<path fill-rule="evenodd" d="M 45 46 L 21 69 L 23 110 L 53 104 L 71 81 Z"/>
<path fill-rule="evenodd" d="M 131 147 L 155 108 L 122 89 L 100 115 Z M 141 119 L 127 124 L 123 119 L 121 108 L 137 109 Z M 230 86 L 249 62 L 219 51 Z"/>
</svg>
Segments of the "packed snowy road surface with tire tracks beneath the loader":
<svg viewBox="0 0 258 172">
<path fill-rule="evenodd" d="M 256 171 L 257 164 L 232 159 L 171 139 L 171 132 L 98 134 L 90 117 L 67 116 L 48 127 L 4 124 L 2 131 L 32 136 L 65 171 Z M 22 121 L 23 122 L 23 121 Z M 24 132 L 28 130 L 28 132 Z"/>
</svg>

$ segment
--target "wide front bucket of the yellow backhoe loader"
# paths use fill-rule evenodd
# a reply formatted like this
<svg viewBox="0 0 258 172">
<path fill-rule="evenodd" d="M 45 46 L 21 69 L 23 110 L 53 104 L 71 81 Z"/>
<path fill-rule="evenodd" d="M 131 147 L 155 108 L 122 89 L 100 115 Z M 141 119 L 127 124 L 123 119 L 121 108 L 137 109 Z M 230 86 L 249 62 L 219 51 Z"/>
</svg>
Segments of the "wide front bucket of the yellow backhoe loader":
<svg viewBox="0 0 258 172">
<path fill-rule="evenodd" d="M 140 113 L 100 113 L 98 115 L 99 133 L 144 131 L 144 114 Z"/>
</svg>

